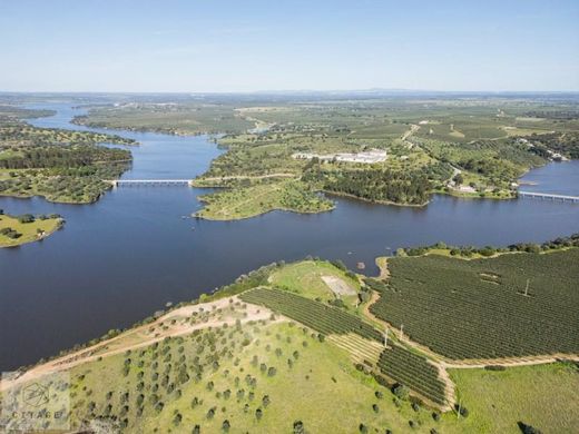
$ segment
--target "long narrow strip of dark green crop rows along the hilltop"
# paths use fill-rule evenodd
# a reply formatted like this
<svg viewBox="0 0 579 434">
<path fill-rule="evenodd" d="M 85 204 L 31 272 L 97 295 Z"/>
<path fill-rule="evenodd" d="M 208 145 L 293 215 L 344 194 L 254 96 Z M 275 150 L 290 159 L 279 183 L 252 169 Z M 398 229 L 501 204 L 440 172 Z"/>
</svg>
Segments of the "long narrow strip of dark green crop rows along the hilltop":
<svg viewBox="0 0 579 434">
<path fill-rule="evenodd" d="M 256 288 L 241 295 L 244 302 L 263 305 L 323 335 L 355 333 L 366 339 L 382 342 L 382 334 L 360 318 L 291 293 Z"/>
</svg>

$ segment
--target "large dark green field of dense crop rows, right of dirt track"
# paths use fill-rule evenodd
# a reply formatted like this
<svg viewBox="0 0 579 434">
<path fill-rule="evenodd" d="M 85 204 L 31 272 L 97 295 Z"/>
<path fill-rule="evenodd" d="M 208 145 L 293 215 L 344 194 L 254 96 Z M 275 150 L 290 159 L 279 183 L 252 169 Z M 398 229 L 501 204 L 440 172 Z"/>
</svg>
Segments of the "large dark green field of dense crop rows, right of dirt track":
<svg viewBox="0 0 579 434">
<path fill-rule="evenodd" d="M 579 249 L 461 260 L 389 260 L 371 307 L 454 359 L 579 353 Z"/>
</svg>

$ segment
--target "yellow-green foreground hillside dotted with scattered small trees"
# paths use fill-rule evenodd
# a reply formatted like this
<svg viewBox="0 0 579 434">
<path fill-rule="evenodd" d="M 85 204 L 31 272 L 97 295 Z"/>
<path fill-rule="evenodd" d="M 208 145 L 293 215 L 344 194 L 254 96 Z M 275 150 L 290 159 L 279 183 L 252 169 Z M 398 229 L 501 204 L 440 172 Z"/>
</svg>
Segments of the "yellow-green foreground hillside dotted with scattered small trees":
<svg viewBox="0 0 579 434">
<path fill-rule="evenodd" d="M 352 433 L 403 432 L 412 421 L 428 433 L 439 424 L 305 332 L 271 320 L 205 328 L 82 364 L 61 385 L 71 425 L 99 417 L 122 432 L 218 433 L 227 421 L 225 431 L 276 433 L 300 421 L 307 432 Z"/>
</svg>

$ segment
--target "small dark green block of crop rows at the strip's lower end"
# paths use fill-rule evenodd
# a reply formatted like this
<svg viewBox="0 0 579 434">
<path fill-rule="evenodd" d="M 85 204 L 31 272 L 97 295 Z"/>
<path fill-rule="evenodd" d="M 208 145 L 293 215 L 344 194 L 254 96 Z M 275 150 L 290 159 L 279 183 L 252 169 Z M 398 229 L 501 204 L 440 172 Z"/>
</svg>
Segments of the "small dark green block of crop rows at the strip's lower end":
<svg viewBox="0 0 579 434">
<path fill-rule="evenodd" d="M 426 357 L 393 345 L 380 355 L 380 371 L 392 379 L 419 392 L 430 401 L 444 405 L 445 386 L 436 367 Z"/>
</svg>

